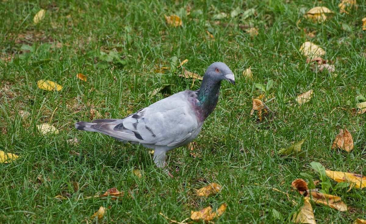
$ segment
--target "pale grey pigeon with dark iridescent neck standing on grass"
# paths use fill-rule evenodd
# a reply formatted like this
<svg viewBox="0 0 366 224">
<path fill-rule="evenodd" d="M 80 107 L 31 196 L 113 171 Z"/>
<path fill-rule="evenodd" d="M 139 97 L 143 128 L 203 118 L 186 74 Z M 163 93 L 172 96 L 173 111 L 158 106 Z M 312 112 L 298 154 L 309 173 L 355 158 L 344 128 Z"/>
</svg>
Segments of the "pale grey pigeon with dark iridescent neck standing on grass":
<svg viewBox="0 0 366 224">
<path fill-rule="evenodd" d="M 130 142 L 154 149 L 154 163 L 165 167 L 166 154 L 193 141 L 203 122 L 219 100 L 222 80 L 235 85 L 235 77 L 222 62 L 211 64 L 203 76 L 201 87 L 185 90 L 139 109 L 123 119 L 96 119 L 76 122 L 82 131 L 100 132 L 121 142 Z"/>
</svg>

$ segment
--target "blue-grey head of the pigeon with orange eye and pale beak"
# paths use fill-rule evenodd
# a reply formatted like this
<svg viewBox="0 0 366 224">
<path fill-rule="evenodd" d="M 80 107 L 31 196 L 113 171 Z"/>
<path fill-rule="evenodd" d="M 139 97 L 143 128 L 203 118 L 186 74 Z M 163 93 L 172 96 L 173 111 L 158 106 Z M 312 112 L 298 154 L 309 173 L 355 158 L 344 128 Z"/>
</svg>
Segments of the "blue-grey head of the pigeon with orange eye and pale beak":
<svg viewBox="0 0 366 224">
<path fill-rule="evenodd" d="M 215 62 L 212 63 L 206 73 L 205 76 L 210 76 L 211 79 L 221 81 L 223 79 L 227 79 L 233 85 L 235 85 L 235 77 L 234 73 L 230 70 L 230 68 L 222 63 L 222 62 Z"/>
</svg>

